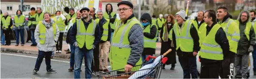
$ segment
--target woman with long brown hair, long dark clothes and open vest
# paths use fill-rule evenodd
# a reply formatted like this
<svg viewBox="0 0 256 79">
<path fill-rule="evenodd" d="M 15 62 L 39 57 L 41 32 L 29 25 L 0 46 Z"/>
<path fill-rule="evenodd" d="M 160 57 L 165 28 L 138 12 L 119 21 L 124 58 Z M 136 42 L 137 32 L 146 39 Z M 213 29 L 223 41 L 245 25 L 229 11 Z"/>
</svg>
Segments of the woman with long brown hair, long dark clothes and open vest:
<svg viewBox="0 0 256 79">
<path fill-rule="evenodd" d="M 160 32 L 161 37 L 161 52 L 160 55 L 163 55 L 166 51 L 169 49 L 175 49 L 173 41 L 172 41 L 172 32 L 173 32 L 173 26 L 174 26 L 174 16 L 168 15 L 167 20 L 163 25 L 162 31 Z M 166 55 L 168 60 L 165 62 L 165 64 L 171 64 L 170 70 L 174 70 L 176 61 L 176 50 L 172 50 L 170 53 Z M 165 64 L 163 64 L 162 69 L 165 69 Z"/>
</svg>

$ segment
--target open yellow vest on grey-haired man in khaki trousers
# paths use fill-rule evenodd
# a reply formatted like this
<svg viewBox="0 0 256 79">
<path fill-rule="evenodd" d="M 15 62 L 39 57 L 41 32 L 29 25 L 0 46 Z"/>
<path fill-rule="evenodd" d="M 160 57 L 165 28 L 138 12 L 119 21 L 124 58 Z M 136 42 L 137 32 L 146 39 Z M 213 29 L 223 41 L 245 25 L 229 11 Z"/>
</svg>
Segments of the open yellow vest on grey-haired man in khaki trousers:
<svg viewBox="0 0 256 79">
<path fill-rule="evenodd" d="M 102 34 L 102 37 L 101 37 L 102 41 L 107 41 L 107 38 L 108 38 L 108 25 L 110 23 L 110 20 L 108 20 L 108 19 L 106 19 L 106 20 L 107 21 L 105 21 L 104 24 L 103 24 L 103 34 Z M 97 23 L 99 23 L 100 19 L 97 18 L 97 19 L 95 19 L 95 21 Z"/>
</svg>

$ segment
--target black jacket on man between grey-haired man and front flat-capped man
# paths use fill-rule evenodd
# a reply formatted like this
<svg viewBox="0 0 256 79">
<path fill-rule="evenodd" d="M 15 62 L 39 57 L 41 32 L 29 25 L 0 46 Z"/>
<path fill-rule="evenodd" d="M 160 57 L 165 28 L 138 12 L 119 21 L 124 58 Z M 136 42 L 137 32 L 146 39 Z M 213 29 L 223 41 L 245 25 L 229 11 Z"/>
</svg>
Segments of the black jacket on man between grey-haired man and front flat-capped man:
<svg viewBox="0 0 256 79">
<path fill-rule="evenodd" d="M 101 37 L 102 37 L 102 34 L 103 34 L 103 31 L 104 31 L 104 28 L 103 28 L 103 25 L 107 22 L 107 20 L 105 18 L 102 18 L 100 21 L 99 21 L 99 26 L 100 26 L 100 29 L 101 29 Z M 110 26 L 110 23 L 108 24 L 108 37 L 107 37 L 107 41 L 110 41 L 110 38 L 111 38 L 111 26 Z M 106 41 L 103 41 L 101 40 L 100 43 L 104 43 Z"/>
</svg>

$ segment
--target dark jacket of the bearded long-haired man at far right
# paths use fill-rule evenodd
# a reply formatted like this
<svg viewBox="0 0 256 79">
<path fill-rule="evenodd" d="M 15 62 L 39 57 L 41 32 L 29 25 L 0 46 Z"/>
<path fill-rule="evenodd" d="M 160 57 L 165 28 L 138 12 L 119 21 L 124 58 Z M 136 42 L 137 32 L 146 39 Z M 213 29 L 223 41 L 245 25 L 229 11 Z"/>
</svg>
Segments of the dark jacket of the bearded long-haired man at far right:
<svg viewBox="0 0 256 79">
<path fill-rule="evenodd" d="M 244 33 L 245 32 L 244 29 L 247 26 L 247 22 L 251 22 L 250 14 L 249 14 L 249 12 L 245 12 L 248 15 L 247 20 L 245 22 L 242 22 L 241 21 L 242 13 L 244 13 L 244 11 L 238 15 L 238 19 L 237 19 L 239 21 L 239 30 L 240 30 L 240 40 L 238 41 L 238 53 L 237 53 L 239 55 L 249 54 L 248 49 L 249 49 L 250 45 L 252 45 L 252 46 L 255 45 L 255 39 L 256 39 L 253 26 L 250 28 L 250 34 L 249 34 L 250 39 L 248 40 L 248 38 L 246 37 L 246 35 Z"/>
</svg>

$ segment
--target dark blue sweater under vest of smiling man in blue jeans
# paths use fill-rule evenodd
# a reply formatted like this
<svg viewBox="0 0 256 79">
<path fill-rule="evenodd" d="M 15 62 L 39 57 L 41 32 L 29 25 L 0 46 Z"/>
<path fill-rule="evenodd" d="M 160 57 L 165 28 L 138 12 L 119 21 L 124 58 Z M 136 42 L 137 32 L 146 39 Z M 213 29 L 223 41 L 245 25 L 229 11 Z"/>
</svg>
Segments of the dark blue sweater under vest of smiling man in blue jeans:
<svg viewBox="0 0 256 79">
<path fill-rule="evenodd" d="M 87 27 L 88 27 L 88 25 L 92 22 L 92 19 L 90 19 L 88 22 L 85 22 L 85 20 L 84 19 L 82 19 L 82 21 L 83 21 L 83 23 L 84 23 L 84 25 L 85 25 L 85 29 L 87 29 Z M 77 22 L 77 21 L 76 21 Z M 75 42 L 76 42 L 76 32 L 77 32 L 77 29 L 76 29 L 76 22 L 73 24 L 73 26 L 71 27 L 71 29 L 70 29 L 70 41 L 71 41 L 71 45 L 73 45 Z M 98 23 L 97 23 L 97 25 L 96 25 L 96 28 L 95 28 L 95 33 L 94 33 L 94 37 L 95 37 L 95 39 L 94 39 L 94 43 L 93 43 L 93 45 L 96 47 L 98 44 L 99 44 L 99 42 L 101 41 L 101 30 L 100 30 L 100 28 L 99 28 L 99 25 L 98 25 Z M 84 48 L 86 48 L 85 46 L 84 46 Z"/>
</svg>

